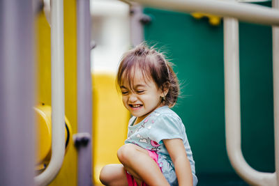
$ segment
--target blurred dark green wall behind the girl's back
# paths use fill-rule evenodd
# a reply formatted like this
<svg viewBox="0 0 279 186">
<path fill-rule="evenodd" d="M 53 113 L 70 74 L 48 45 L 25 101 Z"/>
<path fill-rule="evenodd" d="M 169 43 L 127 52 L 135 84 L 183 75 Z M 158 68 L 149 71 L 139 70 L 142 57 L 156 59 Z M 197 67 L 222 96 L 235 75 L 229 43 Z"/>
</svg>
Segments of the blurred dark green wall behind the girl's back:
<svg viewBox="0 0 279 186">
<path fill-rule="evenodd" d="M 270 2 L 264 3 L 270 6 Z M 150 45 L 167 52 L 181 82 L 181 116 L 196 162 L 199 185 L 246 185 L 234 173 L 225 147 L 223 23 L 144 8 Z M 243 155 L 258 171 L 274 171 L 271 26 L 240 23 Z"/>
</svg>

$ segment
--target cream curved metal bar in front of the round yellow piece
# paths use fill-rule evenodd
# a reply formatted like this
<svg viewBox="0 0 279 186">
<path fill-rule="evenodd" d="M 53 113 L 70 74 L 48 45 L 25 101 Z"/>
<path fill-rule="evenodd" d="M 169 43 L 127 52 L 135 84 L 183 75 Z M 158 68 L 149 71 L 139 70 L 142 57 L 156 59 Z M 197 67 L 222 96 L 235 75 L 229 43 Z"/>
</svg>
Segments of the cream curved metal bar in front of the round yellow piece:
<svg viewBox="0 0 279 186">
<path fill-rule="evenodd" d="M 48 185 L 59 173 L 65 154 L 65 100 L 63 0 L 52 1 L 52 158 L 47 169 L 34 178 L 36 185 Z"/>
</svg>

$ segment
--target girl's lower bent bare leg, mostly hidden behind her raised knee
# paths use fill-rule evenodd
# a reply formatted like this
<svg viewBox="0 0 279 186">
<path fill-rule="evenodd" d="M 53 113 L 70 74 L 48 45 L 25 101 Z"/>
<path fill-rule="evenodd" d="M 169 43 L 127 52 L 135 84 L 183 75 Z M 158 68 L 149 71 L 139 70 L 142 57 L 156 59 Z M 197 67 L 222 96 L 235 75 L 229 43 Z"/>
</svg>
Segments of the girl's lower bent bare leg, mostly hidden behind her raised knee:
<svg viewBox="0 0 279 186">
<path fill-rule="evenodd" d="M 107 186 L 128 186 L 126 171 L 122 164 L 108 164 L 100 171 L 100 182 Z"/>
</svg>

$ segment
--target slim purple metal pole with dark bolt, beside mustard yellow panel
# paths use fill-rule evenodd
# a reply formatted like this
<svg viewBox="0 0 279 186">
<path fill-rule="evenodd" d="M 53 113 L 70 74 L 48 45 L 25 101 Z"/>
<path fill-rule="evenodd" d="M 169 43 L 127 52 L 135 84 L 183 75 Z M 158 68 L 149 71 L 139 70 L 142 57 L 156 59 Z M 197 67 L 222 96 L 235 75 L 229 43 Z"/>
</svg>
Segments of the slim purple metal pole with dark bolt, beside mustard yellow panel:
<svg viewBox="0 0 279 186">
<path fill-rule="evenodd" d="M 77 0 L 78 185 L 92 185 L 92 84 L 90 1 Z"/>
</svg>

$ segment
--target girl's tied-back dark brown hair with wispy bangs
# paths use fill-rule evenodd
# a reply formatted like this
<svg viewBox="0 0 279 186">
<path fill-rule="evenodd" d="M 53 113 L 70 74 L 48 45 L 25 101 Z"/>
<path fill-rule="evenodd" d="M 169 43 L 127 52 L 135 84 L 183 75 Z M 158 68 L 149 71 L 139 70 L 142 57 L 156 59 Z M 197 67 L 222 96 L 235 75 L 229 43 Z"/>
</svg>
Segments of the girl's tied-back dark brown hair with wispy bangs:
<svg viewBox="0 0 279 186">
<path fill-rule="evenodd" d="M 123 79 L 128 80 L 130 88 L 133 87 L 135 70 L 141 70 L 142 75 L 147 79 L 151 78 L 162 91 L 169 89 L 163 104 L 169 107 L 176 104 L 180 91 L 179 81 L 172 70 L 172 64 L 165 59 L 163 53 L 142 43 L 123 54 L 116 77 L 118 87 Z"/>
</svg>

